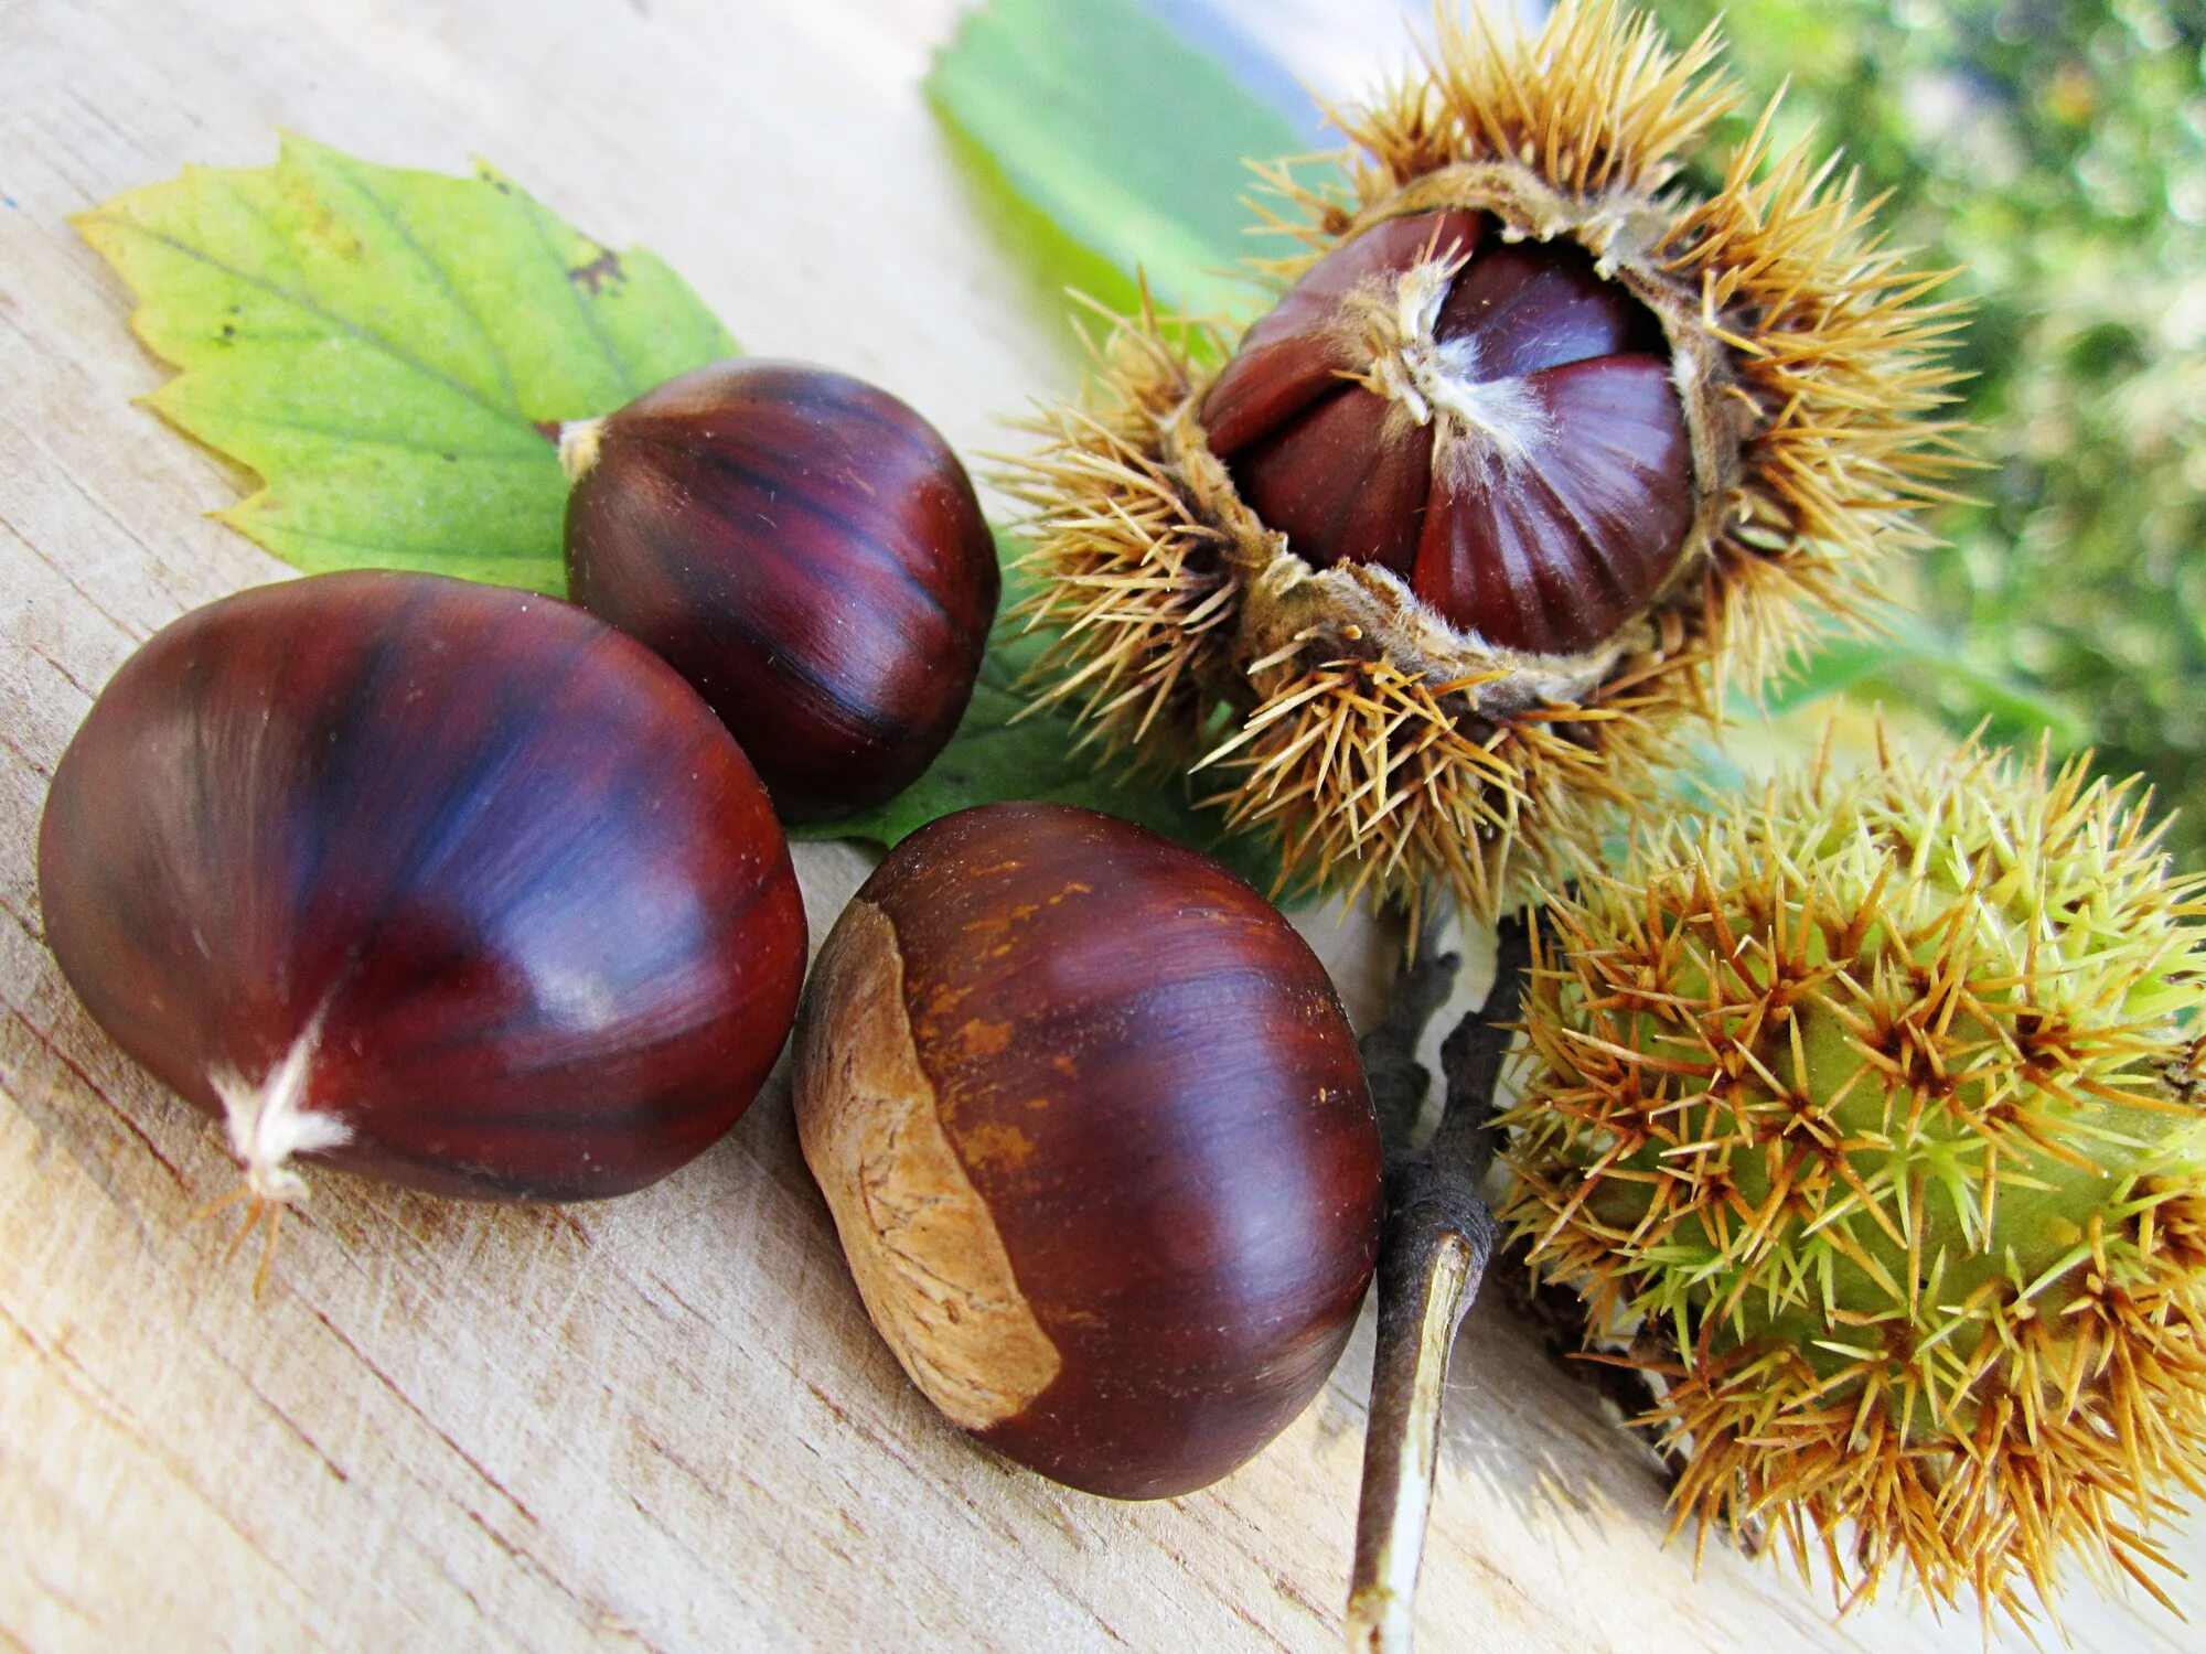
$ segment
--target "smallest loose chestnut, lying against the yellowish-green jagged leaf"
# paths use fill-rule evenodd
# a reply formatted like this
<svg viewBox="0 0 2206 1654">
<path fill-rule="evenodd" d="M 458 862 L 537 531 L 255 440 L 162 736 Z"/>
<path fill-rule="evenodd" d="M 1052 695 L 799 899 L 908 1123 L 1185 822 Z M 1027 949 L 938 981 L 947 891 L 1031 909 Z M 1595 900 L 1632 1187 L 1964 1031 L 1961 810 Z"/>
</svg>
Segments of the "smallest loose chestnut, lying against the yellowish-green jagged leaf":
<svg viewBox="0 0 2206 1654">
<path fill-rule="evenodd" d="M 560 432 L 567 591 L 664 655 L 788 820 L 893 798 L 964 717 L 1002 576 L 949 443 L 885 390 L 721 362 Z"/>
</svg>

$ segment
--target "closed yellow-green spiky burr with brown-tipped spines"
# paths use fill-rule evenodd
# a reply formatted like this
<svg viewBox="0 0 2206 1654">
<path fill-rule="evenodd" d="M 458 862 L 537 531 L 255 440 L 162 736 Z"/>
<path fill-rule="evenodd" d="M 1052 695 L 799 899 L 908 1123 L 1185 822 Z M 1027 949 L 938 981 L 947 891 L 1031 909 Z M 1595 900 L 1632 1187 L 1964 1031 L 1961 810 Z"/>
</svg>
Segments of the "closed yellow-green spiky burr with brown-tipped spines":
<svg viewBox="0 0 2206 1654">
<path fill-rule="evenodd" d="M 2129 787 L 1880 754 L 1549 906 L 1502 1217 L 1659 1381 L 1677 1515 L 1868 1594 L 2157 1594 L 2206 1482 L 2199 880 Z"/>
</svg>

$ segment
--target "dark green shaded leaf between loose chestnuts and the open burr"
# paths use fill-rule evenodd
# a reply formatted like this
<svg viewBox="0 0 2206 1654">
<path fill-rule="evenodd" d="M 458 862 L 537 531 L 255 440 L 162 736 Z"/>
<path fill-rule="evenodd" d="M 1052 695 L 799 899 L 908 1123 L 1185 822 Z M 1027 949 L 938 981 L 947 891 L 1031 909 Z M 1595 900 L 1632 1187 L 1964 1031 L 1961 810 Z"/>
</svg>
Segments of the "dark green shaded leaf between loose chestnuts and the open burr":
<svg viewBox="0 0 2206 1654">
<path fill-rule="evenodd" d="M 1026 576 L 1010 547 L 999 538 L 1004 556 L 1004 611 L 1017 609 Z M 1249 834 L 1227 834 L 1211 809 L 1200 809 L 1187 792 L 1187 781 L 1147 781 L 1125 774 L 1101 774 L 1096 754 L 1079 745 L 1072 721 L 1052 710 L 1037 710 L 1026 690 L 1026 675 L 1039 655 L 1043 633 L 1026 631 L 1015 620 L 999 620 L 982 662 L 973 704 L 957 734 L 924 776 L 889 803 L 849 820 L 816 827 L 792 827 L 790 838 L 869 838 L 896 845 L 938 816 L 971 805 L 1013 798 L 1041 798 L 1081 805 L 1154 827 L 1167 838 L 1209 851 L 1227 867 L 1271 891 L 1279 878 L 1277 856 Z"/>
</svg>

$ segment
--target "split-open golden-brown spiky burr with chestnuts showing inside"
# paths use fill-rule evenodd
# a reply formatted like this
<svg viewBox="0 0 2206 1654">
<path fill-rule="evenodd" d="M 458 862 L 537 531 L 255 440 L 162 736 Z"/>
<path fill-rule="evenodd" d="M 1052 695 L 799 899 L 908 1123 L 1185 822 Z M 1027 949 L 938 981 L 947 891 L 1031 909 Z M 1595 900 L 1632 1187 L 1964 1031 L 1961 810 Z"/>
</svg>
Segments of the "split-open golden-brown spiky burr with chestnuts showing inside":
<svg viewBox="0 0 2206 1654">
<path fill-rule="evenodd" d="M 1041 419 L 1013 487 L 1050 695 L 1220 763 L 1291 878 L 1491 915 L 1568 871 L 1955 468 L 1921 417 L 1955 307 L 1853 181 L 1765 117 L 1714 196 L 1677 187 L 1734 104 L 1714 53 L 1613 0 L 1443 18 L 1339 117 L 1346 196 L 1271 172 L 1306 251 L 1240 353 L 1211 375 L 1143 313 Z"/>
</svg>

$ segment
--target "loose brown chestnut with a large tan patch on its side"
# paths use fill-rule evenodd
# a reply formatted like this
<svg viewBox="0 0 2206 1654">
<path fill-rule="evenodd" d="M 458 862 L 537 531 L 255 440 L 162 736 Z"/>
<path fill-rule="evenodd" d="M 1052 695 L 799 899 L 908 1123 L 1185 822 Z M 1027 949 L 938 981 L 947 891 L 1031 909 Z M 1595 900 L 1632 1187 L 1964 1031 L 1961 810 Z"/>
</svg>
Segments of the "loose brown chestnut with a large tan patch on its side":
<svg viewBox="0 0 2206 1654">
<path fill-rule="evenodd" d="M 1308 944 L 1070 805 L 904 838 L 821 948 L 796 1129 L 911 1381 L 1112 1497 L 1240 1467 L 1317 1394 L 1379 1244 L 1379 1129 Z"/>
</svg>

